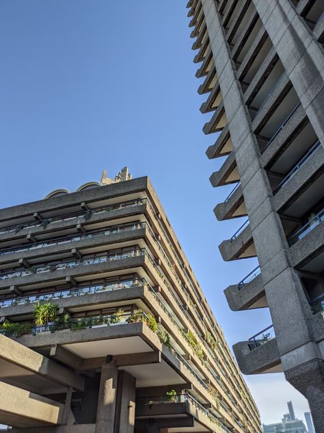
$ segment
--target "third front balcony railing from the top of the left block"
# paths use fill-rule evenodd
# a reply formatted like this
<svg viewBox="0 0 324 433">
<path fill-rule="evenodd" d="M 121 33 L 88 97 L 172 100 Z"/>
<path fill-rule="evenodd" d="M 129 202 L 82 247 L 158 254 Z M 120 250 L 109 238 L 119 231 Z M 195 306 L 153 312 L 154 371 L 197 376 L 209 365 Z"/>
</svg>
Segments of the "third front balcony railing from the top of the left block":
<svg viewBox="0 0 324 433">
<path fill-rule="evenodd" d="M 61 271 L 62 269 L 71 269 L 81 265 L 87 264 L 98 264 L 104 262 L 111 262 L 113 260 L 121 260 L 123 258 L 132 258 L 135 256 L 148 255 L 145 248 L 133 248 L 125 249 L 124 251 L 109 251 L 108 253 L 102 253 L 100 256 L 93 256 L 90 258 L 81 258 L 77 260 L 60 260 L 59 262 L 53 262 L 50 264 L 42 265 L 40 267 L 33 267 L 29 269 L 23 269 L 22 271 L 8 271 L 0 273 L 0 280 L 6 280 L 7 278 L 23 277 L 25 275 L 45 273 L 52 271 Z"/>
</svg>

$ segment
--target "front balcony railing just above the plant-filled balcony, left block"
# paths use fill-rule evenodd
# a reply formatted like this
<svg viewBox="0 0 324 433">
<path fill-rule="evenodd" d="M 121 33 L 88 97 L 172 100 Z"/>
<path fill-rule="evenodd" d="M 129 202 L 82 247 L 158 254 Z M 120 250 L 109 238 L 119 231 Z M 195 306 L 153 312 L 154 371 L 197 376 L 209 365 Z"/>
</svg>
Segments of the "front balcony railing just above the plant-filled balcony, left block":
<svg viewBox="0 0 324 433">
<path fill-rule="evenodd" d="M 23 297 L 16 297 L 14 299 L 3 299 L 0 301 L 0 308 L 22 306 L 27 304 L 36 304 L 38 301 L 55 301 L 57 299 L 65 299 L 68 297 L 92 295 L 94 293 L 110 292 L 120 290 L 122 288 L 134 288 L 138 286 L 148 286 L 145 278 L 133 278 L 131 280 L 122 280 L 116 282 L 109 282 L 98 284 L 96 286 L 86 286 L 74 289 L 56 290 L 50 293 L 39 293 L 36 295 L 29 295 Z"/>
</svg>

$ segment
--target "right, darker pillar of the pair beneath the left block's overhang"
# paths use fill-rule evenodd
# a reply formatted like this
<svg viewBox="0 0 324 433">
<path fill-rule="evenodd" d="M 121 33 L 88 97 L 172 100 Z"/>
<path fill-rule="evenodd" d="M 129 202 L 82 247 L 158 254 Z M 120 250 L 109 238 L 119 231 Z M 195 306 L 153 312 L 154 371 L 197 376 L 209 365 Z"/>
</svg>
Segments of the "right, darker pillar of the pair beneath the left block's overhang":
<svg viewBox="0 0 324 433">
<path fill-rule="evenodd" d="M 116 433 L 134 433 L 136 379 L 124 370 L 118 371 L 116 400 Z"/>
</svg>

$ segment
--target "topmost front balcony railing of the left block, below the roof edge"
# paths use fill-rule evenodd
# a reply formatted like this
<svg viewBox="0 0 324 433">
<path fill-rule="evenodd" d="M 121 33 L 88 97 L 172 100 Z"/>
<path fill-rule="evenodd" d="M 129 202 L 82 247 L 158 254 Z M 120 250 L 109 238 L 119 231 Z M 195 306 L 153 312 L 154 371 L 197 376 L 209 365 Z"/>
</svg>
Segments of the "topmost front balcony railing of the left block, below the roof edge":
<svg viewBox="0 0 324 433">
<path fill-rule="evenodd" d="M 120 210 L 123 208 L 131 208 L 133 206 L 139 206 L 144 203 L 146 203 L 146 199 L 123 201 L 122 203 L 116 203 L 108 206 L 102 206 L 100 208 L 83 210 L 80 212 L 73 212 L 65 215 L 59 215 L 57 217 L 51 217 L 49 219 L 41 219 L 38 221 L 31 221 L 29 223 L 10 225 L 9 227 L 0 228 L 0 234 L 11 233 L 11 232 L 18 233 L 23 229 L 30 229 L 33 227 L 41 227 L 41 226 L 46 227 L 50 223 L 57 223 L 59 221 L 68 221 L 71 219 L 83 218 L 84 221 L 88 221 L 92 217 L 92 215 L 103 214 L 105 212 L 111 212 L 113 210 Z"/>
</svg>

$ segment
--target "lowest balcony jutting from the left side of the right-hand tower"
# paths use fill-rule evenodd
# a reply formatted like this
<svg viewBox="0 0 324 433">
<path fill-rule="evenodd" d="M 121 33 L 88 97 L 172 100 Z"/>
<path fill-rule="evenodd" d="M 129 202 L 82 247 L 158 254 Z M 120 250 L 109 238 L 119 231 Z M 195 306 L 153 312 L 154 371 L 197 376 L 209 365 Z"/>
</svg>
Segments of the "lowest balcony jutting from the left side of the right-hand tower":
<svg viewBox="0 0 324 433">
<path fill-rule="evenodd" d="M 273 326 L 233 346 L 234 354 L 243 374 L 279 373 L 282 371 Z"/>
</svg>

